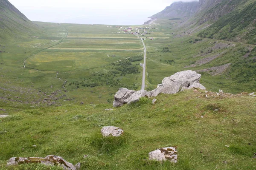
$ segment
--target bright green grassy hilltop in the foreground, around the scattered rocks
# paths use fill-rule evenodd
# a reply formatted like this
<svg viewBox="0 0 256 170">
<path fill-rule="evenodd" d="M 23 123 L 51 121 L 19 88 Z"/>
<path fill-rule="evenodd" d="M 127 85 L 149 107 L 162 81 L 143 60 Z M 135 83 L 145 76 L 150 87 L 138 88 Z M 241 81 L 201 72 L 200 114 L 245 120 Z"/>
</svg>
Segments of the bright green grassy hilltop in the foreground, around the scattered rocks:
<svg viewBox="0 0 256 170">
<path fill-rule="evenodd" d="M 0 119 L 0 169 L 60 169 L 5 167 L 13 156 L 49 154 L 81 162 L 82 170 L 256 169 L 255 97 L 205 95 L 197 90 L 160 95 L 155 105 L 142 98 L 113 111 L 105 111 L 111 105 L 63 105 L 12 113 Z M 108 125 L 125 133 L 103 138 L 100 129 Z M 177 164 L 148 160 L 149 152 L 169 146 L 177 146 Z"/>
</svg>

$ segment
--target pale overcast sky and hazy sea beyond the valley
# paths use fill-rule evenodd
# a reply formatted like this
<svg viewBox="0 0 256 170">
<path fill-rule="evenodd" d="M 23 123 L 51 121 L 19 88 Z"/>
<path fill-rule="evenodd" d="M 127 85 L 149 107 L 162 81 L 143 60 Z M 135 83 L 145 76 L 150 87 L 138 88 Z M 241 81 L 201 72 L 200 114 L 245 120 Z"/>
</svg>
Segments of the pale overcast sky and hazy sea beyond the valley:
<svg viewBox="0 0 256 170">
<path fill-rule="evenodd" d="M 9 0 L 32 21 L 108 25 L 141 25 L 175 1 L 179 0 Z"/>
</svg>

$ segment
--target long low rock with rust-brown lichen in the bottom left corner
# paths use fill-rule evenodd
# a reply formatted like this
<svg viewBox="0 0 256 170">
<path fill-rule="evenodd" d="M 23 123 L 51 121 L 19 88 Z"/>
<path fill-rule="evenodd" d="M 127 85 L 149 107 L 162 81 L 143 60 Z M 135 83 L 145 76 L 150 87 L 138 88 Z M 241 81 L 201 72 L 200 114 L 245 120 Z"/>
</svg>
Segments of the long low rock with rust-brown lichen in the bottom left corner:
<svg viewBox="0 0 256 170">
<path fill-rule="evenodd" d="M 19 165 L 19 164 L 30 164 L 30 163 L 41 163 L 48 166 L 54 166 L 59 165 L 63 167 L 64 170 L 76 170 L 76 167 L 67 162 L 65 159 L 63 159 L 60 156 L 55 155 L 48 155 L 45 158 L 39 158 L 39 157 L 29 157 L 29 158 L 21 158 L 21 157 L 13 157 L 10 158 L 7 162 L 6 166 L 13 166 L 13 165 Z"/>
</svg>

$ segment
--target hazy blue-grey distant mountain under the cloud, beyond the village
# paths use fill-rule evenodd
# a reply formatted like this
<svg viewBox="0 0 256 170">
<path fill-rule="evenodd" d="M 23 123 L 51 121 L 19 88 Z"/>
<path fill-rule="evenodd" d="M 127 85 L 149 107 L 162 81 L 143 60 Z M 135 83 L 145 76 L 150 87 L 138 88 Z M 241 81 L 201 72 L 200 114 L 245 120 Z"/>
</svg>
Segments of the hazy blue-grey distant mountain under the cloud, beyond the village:
<svg viewBox="0 0 256 170">
<path fill-rule="evenodd" d="M 188 18 L 196 13 L 198 4 L 198 2 L 175 2 L 151 18 Z"/>
</svg>

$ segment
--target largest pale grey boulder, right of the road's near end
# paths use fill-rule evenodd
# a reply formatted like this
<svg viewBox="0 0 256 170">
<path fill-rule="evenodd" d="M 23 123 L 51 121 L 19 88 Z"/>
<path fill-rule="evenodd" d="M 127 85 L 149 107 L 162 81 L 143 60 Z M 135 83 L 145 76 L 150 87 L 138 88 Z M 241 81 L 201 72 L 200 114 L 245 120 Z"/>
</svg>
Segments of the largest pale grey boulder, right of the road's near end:
<svg viewBox="0 0 256 170">
<path fill-rule="evenodd" d="M 195 71 L 187 70 L 180 71 L 173 74 L 171 77 L 165 77 L 162 80 L 162 84 L 157 85 L 157 88 L 152 92 L 152 97 L 157 96 L 160 93 L 163 94 L 176 94 L 183 87 L 189 88 L 194 83 L 199 84 L 201 74 L 197 74 Z"/>
</svg>

